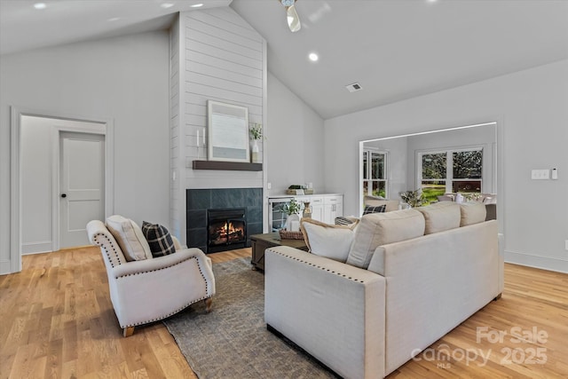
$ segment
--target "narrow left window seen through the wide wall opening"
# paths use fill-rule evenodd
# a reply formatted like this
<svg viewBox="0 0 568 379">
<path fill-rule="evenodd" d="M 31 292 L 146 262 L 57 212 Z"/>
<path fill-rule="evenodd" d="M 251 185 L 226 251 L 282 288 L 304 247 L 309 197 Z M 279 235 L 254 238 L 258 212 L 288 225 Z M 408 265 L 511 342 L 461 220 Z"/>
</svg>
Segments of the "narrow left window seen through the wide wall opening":
<svg viewBox="0 0 568 379">
<path fill-rule="evenodd" d="M 387 197 L 387 154 L 363 151 L 363 194 Z"/>
</svg>

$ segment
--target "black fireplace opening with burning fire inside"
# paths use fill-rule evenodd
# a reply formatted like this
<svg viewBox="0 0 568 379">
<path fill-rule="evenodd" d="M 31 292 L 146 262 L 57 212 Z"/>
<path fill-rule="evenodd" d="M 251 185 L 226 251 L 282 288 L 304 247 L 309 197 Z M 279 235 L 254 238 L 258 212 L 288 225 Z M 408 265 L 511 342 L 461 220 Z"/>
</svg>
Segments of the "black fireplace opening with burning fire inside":
<svg viewBox="0 0 568 379">
<path fill-rule="evenodd" d="M 246 209 L 208 209 L 207 219 L 208 253 L 245 247 Z"/>
</svg>

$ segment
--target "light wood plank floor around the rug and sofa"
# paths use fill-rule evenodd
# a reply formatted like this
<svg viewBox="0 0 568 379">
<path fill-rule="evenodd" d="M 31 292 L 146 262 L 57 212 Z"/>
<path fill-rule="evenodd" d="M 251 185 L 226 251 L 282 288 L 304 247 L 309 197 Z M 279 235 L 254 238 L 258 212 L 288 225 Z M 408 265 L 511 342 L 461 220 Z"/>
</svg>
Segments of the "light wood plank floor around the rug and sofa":
<svg viewBox="0 0 568 379">
<path fill-rule="evenodd" d="M 96 248 L 25 256 L 22 272 L 0 276 L 0 343 L 0 379 L 195 377 L 161 322 L 122 337 Z M 568 377 L 568 275 L 505 265 L 501 299 L 418 358 L 390 378 Z"/>
</svg>

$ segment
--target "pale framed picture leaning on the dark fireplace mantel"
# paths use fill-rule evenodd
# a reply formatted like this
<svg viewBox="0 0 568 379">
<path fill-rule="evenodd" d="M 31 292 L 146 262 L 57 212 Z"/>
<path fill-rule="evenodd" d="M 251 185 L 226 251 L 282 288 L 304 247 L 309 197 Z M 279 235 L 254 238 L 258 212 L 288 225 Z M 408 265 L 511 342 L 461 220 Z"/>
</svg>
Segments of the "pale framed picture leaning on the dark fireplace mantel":
<svg viewBox="0 0 568 379">
<path fill-rule="evenodd" d="M 248 108 L 207 100 L 209 161 L 250 162 Z"/>
</svg>

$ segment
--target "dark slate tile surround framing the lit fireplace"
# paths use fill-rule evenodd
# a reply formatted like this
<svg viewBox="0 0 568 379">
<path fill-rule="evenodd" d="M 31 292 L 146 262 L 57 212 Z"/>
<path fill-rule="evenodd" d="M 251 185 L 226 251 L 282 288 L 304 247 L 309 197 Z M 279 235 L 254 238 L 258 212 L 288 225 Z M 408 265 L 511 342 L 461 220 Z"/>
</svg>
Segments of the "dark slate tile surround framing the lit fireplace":
<svg viewBox="0 0 568 379">
<path fill-rule="evenodd" d="M 187 246 L 208 252 L 207 209 L 247 209 L 247 242 L 250 236 L 263 233 L 262 188 L 209 188 L 185 190 Z"/>
</svg>

